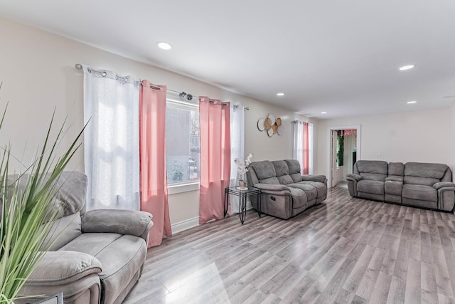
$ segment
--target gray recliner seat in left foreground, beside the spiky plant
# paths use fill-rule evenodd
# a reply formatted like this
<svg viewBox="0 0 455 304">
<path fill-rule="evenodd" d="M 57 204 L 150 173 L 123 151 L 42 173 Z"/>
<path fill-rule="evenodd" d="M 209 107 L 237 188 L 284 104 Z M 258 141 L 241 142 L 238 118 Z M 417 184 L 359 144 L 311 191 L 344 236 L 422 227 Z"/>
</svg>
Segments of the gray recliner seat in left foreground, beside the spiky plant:
<svg viewBox="0 0 455 304">
<path fill-rule="evenodd" d="M 65 303 L 122 303 L 141 276 L 152 226 L 142 211 L 85 211 L 87 177 L 63 172 L 56 207 L 60 217 L 48 234 L 50 251 L 19 296 L 63 292 Z M 37 297 L 14 300 L 30 303 Z"/>
</svg>

